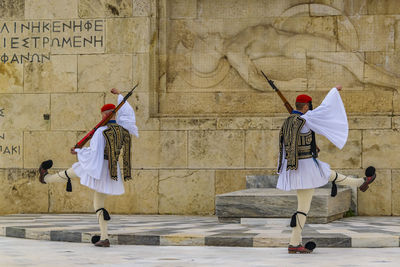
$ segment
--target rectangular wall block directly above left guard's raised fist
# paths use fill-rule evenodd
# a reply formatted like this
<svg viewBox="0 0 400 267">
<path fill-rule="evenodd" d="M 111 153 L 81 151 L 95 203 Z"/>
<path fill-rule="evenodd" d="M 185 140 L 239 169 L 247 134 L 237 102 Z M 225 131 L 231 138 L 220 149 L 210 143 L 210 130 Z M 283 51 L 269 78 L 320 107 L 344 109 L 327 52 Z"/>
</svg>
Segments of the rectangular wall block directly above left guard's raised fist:
<svg viewBox="0 0 400 267">
<path fill-rule="evenodd" d="M 127 90 L 132 87 L 131 55 L 82 55 L 78 57 L 79 92 L 109 93 L 111 88 Z"/>
</svg>

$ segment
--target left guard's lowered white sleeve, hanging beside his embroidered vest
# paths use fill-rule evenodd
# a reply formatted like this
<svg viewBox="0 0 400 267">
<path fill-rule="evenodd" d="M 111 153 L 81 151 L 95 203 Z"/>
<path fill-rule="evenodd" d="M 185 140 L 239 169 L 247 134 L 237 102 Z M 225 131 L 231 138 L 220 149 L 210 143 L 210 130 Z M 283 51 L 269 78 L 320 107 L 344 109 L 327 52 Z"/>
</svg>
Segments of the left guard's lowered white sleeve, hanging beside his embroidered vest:
<svg viewBox="0 0 400 267">
<path fill-rule="evenodd" d="M 76 170 L 76 174 L 79 177 L 91 176 L 94 179 L 101 178 L 101 170 L 104 162 L 104 148 L 106 145 L 103 131 L 106 128 L 106 126 L 102 126 L 94 132 L 89 147 L 75 149 L 78 153 L 78 162 L 72 167 L 75 167 L 74 170 Z M 79 168 L 76 168 L 78 165 Z"/>
</svg>

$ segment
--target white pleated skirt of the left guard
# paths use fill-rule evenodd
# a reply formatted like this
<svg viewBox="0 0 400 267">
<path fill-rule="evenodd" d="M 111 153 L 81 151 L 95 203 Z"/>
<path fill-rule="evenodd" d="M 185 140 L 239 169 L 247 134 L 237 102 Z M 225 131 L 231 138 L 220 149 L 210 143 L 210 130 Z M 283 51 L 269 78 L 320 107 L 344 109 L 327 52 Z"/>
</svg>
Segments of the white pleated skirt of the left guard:
<svg viewBox="0 0 400 267">
<path fill-rule="evenodd" d="M 122 195 L 125 192 L 119 164 L 117 181 L 111 179 L 110 170 L 108 169 L 108 160 L 103 161 L 100 179 L 96 179 L 88 175 L 79 162 L 74 163 L 72 168 L 74 169 L 76 175 L 80 177 L 82 185 L 87 186 L 99 193 L 108 195 Z"/>
</svg>

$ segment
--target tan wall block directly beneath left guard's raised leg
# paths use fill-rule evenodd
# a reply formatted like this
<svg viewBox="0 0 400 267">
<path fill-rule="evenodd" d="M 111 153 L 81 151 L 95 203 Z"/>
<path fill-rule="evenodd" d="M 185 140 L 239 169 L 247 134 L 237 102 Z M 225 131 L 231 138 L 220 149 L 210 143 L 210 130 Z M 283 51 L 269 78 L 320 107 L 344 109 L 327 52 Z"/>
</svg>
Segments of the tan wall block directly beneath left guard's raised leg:
<svg viewBox="0 0 400 267">
<path fill-rule="evenodd" d="M 67 152 L 67 151 L 66 151 Z M 57 160 L 54 160 L 54 164 Z M 69 167 L 68 167 L 69 168 Z M 51 169 L 49 173 L 56 173 L 65 169 Z M 49 183 L 49 212 L 52 213 L 94 213 L 94 191 L 80 184 L 79 178 L 72 179 L 72 192 L 66 191 L 65 183 Z M 45 185 L 44 185 L 45 186 Z M 106 199 L 107 203 L 108 198 Z"/>
</svg>

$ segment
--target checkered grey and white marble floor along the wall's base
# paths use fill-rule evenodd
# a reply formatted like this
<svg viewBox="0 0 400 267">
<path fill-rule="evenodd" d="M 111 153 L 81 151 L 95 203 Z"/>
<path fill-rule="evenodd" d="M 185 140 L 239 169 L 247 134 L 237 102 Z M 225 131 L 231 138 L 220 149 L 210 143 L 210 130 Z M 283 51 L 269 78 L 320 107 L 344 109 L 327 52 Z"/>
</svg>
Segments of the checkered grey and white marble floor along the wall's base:
<svg viewBox="0 0 400 267">
<path fill-rule="evenodd" d="M 289 219 L 219 223 L 217 217 L 113 215 L 112 244 L 161 246 L 286 247 Z M 261 224 L 260 224 L 261 222 Z M 89 243 L 99 233 L 94 214 L 16 214 L 0 216 L 0 236 Z M 399 247 L 400 217 L 350 217 L 306 224 L 303 243 L 319 247 Z"/>
</svg>

